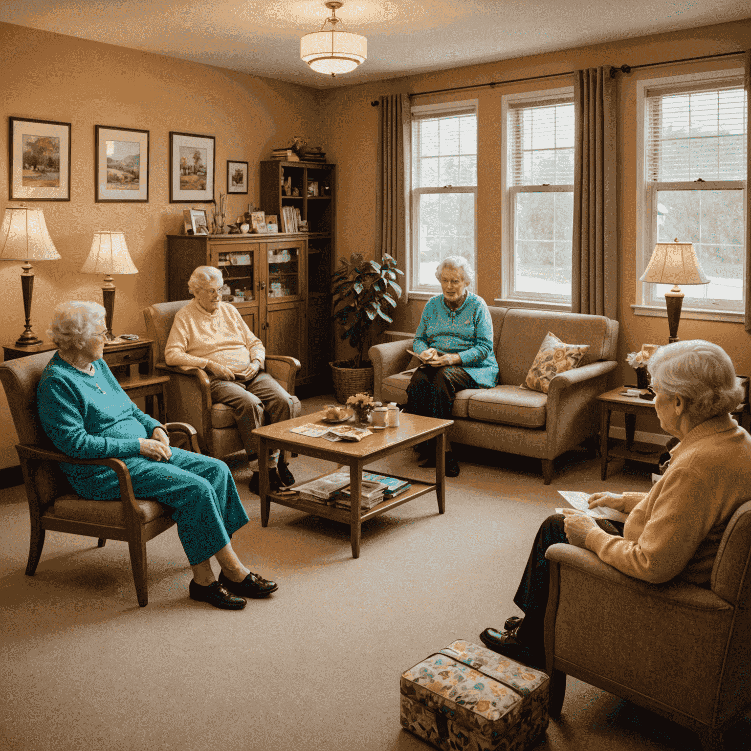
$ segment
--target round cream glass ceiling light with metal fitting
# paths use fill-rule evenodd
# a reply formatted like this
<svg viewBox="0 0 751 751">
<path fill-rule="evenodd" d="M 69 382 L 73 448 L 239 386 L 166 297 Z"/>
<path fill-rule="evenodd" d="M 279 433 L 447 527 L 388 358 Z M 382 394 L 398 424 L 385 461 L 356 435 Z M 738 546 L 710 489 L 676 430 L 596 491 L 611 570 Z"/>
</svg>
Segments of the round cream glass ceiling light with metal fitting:
<svg viewBox="0 0 751 751">
<path fill-rule="evenodd" d="M 337 73 L 354 71 L 357 65 L 365 62 L 368 56 L 367 38 L 347 31 L 342 20 L 336 17 L 336 11 L 342 7 L 340 2 L 327 2 L 331 17 L 324 21 L 321 30 L 306 34 L 300 39 L 300 59 L 314 71 L 336 76 Z M 341 23 L 343 31 L 336 28 Z"/>
</svg>

